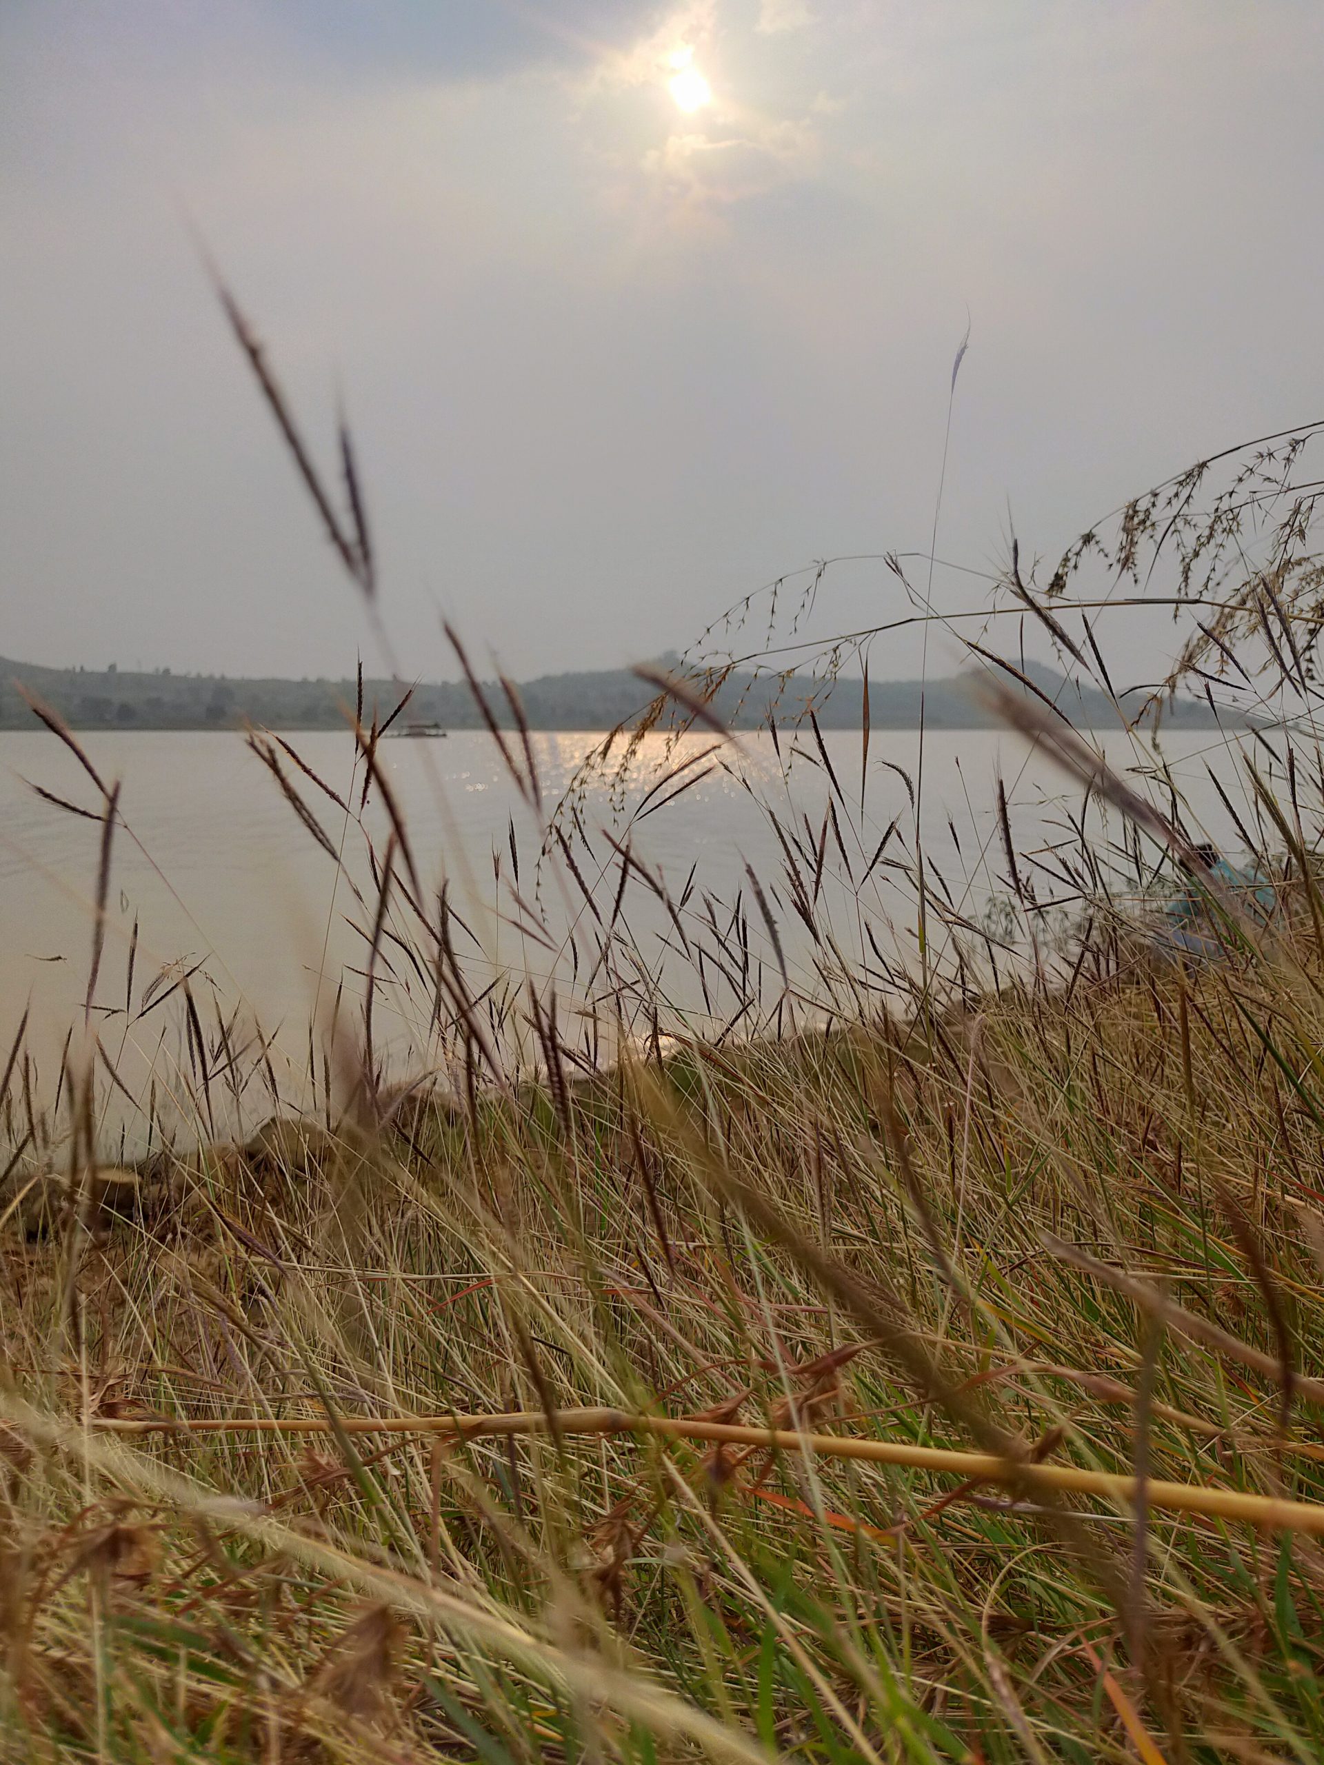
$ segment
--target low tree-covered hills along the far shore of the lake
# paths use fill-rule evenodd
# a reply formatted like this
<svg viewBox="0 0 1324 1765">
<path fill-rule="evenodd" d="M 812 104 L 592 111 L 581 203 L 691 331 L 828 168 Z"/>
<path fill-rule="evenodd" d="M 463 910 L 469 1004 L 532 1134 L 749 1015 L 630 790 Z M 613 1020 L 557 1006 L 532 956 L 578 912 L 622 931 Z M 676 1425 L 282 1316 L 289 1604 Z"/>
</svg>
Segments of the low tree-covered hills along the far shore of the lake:
<svg viewBox="0 0 1324 1765">
<path fill-rule="evenodd" d="M 674 669 L 676 657 L 660 665 Z M 1063 681 L 1052 669 L 1031 664 L 1036 687 L 1056 699 L 1079 727 L 1107 729 L 1116 711 L 1107 695 L 1080 690 Z M 0 657 L 0 729 L 32 729 L 34 717 L 18 685 L 49 704 L 72 729 L 233 729 L 245 722 L 268 729 L 344 729 L 346 708 L 355 702 L 351 680 L 247 680 L 224 674 L 152 674 L 120 672 L 115 667 L 58 669 Z M 780 692 L 777 722 L 786 725 L 803 715 L 809 685 L 791 681 Z M 989 715 L 976 704 L 960 678 L 870 681 L 869 715 L 874 729 L 914 729 L 920 722 L 920 697 L 930 729 L 983 729 Z M 512 727 L 514 717 L 498 687 L 487 688 L 498 722 Z M 584 674 L 544 674 L 519 687 L 531 729 L 613 729 L 632 724 L 650 701 L 650 688 L 628 669 L 604 669 Z M 395 706 L 397 690 L 390 681 L 364 683 L 365 720 L 376 706 L 381 717 Z M 733 674 L 713 701 L 718 717 L 738 729 L 754 729 L 768 720 L 777 701 L 771 678 Z M 1139 711 L 1142 695 L 1125 699 Z M 858 680 L 839 681 L 819 702 L 823 729 L 858 729 L 863 717 L 863 688 Z M 443 729 L 482 729 L 482 717 L 468 687 L 454 681 L 418 685 L 404 713 L 408 722 L 440 724 Z M 1165 711 L 1167 724 L 1211 727 L 1213 715 L 1199 699 L 1183 699 Z"/>
</svg>

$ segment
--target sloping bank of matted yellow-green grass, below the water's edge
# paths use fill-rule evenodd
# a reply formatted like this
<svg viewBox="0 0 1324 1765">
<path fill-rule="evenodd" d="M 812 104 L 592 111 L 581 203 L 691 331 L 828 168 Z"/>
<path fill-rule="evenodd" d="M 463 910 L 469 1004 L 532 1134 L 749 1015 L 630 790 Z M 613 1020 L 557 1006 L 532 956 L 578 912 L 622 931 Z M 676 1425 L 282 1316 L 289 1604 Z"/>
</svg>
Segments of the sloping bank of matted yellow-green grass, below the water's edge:
<svg viewBox="0 0 1324 1765">
<path fill-rule="evenodd" d="M 97 1431 L 715 1410 L 1324 1500 L 1308 916 L 1294 953 L 415 1093 L 11 1237 L 7 1753 L 1319 1756 L 1290 1532 L 614 1435 Z"/>
</svg>

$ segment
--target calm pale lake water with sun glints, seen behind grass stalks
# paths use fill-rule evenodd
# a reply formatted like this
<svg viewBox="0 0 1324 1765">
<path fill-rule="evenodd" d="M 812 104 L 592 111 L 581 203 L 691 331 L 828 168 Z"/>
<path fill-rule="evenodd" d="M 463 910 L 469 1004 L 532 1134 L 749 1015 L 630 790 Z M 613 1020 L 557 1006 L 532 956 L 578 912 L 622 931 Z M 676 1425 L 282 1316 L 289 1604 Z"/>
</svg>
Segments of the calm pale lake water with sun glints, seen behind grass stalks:
<svg viewBox="0 0 1324 1765">
<path fill-rule="evenodd" d="M 127 1054 L 139 1073 L 159 1059 L 157 1038 L 168 1011 L 143 1013 L 173 978 L 196 969 L 194 990 L 240 1008 L 244 1022 L 267 1034 L 279 1031 L 286 1050 L 307 1048 L 307 1025 L 325 1017 L 341 983 L 362 999 L 367 944 L 376 888 L 364 838 L 330 796 L 293 762 L 323 833 L 344 852 L 344 867 L 318 845 L 263 764 L 233 732 L 113 732 L 79 738 L 106 782 L 118 780 L 122 824 L 111 844 L 106 939 L 94 1015 L 102 1043 L 120 1059 Z M 362 766 L 348 734 L 298 734 L 290 743 L 327 784 L 358 808 Z M 388 789 L 408 828 L 408 842 L 422 891 L 434 897 L 447 879 L 448 898 L 473 934 L 463 937 L 464 960 L 480 990 L 484 974 L 554 974 L 574 1003 L 586 983 L 593 934 L 607 925 L 620 879 L 620 858 L 606 835 L 630 851 L 653 877 L 660 877 L 673 904 L 683 900 L 681 925 L 696 941 L 708 935 L 720 948 L 736 895 L 743 890 L 747 941 L 754 962 L 773 964 L 766 916 L 754 904 L 745 867 L 764 886 L 782 957 L 793 987 L 803 999 L 821 995 L 824 950 L 837 943 L 844 957 L 869 957 L 874 946 L 900 950 L 914 939 L 913 891 L 899 886 L 900 872 L 879 863 L 863 904 L 846 886 L 846 861 L 858 875 L 886 828 L 899 817 L 888 852 L 904 858 L 913 847 L 913 808 L 907 777 L 916 778 L 916 741 L 909 732 L 876 732 L 870 741 L 861 798 L 861 736 L 830 732 L 826 752 L 840 785 L 837 828 L 823 833 L 830 785 L 812 738 L 782 736 L 780 757 L 766 732 L 741 736 L 740 752 L 713 750 L 710 736 L 667 743 L 648 736 L 628 773 L 614 780 L 590 778 L 574 798 L 574 815 L 563 807 L 561 824 L 577 852 L 574 870 L 561 847 L 538 865 L 553 807 L 572 785 L 584 755 L 600 741 L 595 734 L 540 734 L 533 759 L 542 807 L 526 801 L 501 755 L 485 734 L 457 732 L 447 740 L 383 741 L 380 754 Z M 1121 736 L 1105 740 L 1117 768 L 1146 766 L 1146 750 Z M 713 750 L 713 752 L 710 752 Z M 1232 782 L 1237 762 L 1216 732 L 1174 732 L 1163 738 L 1163 755 L 1188 792 L 1193 815 L 1220 842 L 1237 844 L 1230 821 L 1207 782 L 1206 761 Z M 685 762 L 690 762 L 685 770 Z M 669 770 L 673 782 L 653 789 Z M 1013 734 L 939 731 L 927 738 L 923 775 L 923 837 L 932 865 L 964 913 L 982 913 L 990 895 L 1006 890 L 1006 863 L 996 814 L 996 780 L 1006 796 L 1017 845 L 1022 851 L 1070 837 L 1066 812 L 1079 812 L 1079 792 L 1064 785 L 1052 764 L 1031 754 Z M 688 789 L 680 791 L 688 780 Z M 101 824 L 42 800 L 41 785 L 65 801 L 99 812 L 99 796 L 76 757 L 44 732 L 0 734 L 0 1038 L 9 1038 L 26 1010 L 30 1045 L 49 1073 L 71 1025 L 81 1022 L 92 951 L 92 923 L 101 852 Z M 678 792 L 678 794 L 673 794 Z M 671 798 L 667 801 L 667 798 Z M 646 812 L 641 815 L 639 807 Z M 794 830 L 817 875 L 816 916 L 830 939 L 816 943 L 794 913 L 786 882 L 786 852 L 768 807 Z M 577 819 L 575 819 L 577 817 Z M 381 847 L 388 833 L 381 792 L 374 791 L 365 826 Z M 588 837 L 586 849 L 577 835 Z M 514 856 L 512 856 L 514 838 Z M 823 858 L 817 858 L 817 851 Z M 519 882 L 514 868 L 519 861 Z M 1049 861 L 1045 858 L 1045 861 Z M 583 884 L 595 895 L 598 920 L 586 907 Z M 688 895 L 687 891 L 688 882 Z M 355 900 L 353 886 L 362 891 Z M 1040 879 L 1040 891 L 1052 890 Z M 399 897 L 387 920 L 397 923 Z M 535 921 L 538 921 L 535 925 Z M 598 923 L 600 921 L 600 923 Z M 134 980 L 129 988 L 129 950 L 138 925 Z M 621 900 L 618 937 L 625 930 L 644 965 L 662 976 L 660 990 L 680 1020 L 711 1027 L 729 1010 L 729 990 L 715 967 L 696 973 L 690 957 L 678 957 L 680 932 L 669 909 L 637 875 Z M 575 934 L 570 948 L 568 934 Z M 535 935 L 537 934 L 537 935 Z M 461 934 L 457 934 L 457 943 Z M 383 957 L 399 976 L 390 1003 L 383 995 L 380 1034 L 413 1034 L 411 1013 L 427 1017 L 431 999 L 424 976 L 383 943 Z M 835 958 L 831 958 L 835 960 Z M 628 965 L 627 965 L 628 967 Z M 630 973 L 634 973 L 634 969 Z M 628 974 L 625 976 L 628 980 Z M 616 981 L 625 987 L 621 971 Z M 602 974 L 595 978 L 600 992 Z M 178 999 L 175 1001 L 178 1004 Z M 0 1048 L 4 1061 L 4 1048 Z"/>
</svg>

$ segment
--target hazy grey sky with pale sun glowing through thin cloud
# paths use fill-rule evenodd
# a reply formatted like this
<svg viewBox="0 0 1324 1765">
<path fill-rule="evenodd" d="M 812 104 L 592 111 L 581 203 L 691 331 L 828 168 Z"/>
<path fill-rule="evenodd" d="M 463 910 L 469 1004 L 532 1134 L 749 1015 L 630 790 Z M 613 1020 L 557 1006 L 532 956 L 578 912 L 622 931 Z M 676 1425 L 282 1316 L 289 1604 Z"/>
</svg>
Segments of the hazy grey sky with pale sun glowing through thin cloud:
<svg viewBox="0 0 1324 1765">
<path fill-rule="evenodd" d="M 191 224 L 325 459 L 342 392 L 424 676 L 925 549 L 967 309 L 974 567 L 1320 415 L 1320 0 L 0 0 L 0 85 L 4 655 L 374 660 Z"/>
</svg>

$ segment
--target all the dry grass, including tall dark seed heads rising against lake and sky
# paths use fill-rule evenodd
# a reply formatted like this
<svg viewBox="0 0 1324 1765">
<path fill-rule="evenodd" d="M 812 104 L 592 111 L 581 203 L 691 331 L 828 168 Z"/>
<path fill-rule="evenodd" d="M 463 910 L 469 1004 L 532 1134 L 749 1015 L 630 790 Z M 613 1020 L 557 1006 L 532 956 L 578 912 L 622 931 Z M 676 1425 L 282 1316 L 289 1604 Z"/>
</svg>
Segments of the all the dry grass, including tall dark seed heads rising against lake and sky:
<svg viewBox="0 0 1324 1765">
<path fill-rule="evenodd" d="M 374 609 L 348 438 L 342 521 L 231 321 Z M 1289 499 L 1268 575 L 1218 575 L 1245 561 L 1237 512 L 1282 501 L 1303 447 L 1234 461 L 1204 526 L 1207 462 L 1126 505 L 1116 538 L 1091 530 L 1047 597 L 1015 554 L 1004 586 L 1082 662 L 1063 627 L 1082 560 L 1139 584 L 1169 545 L 1179 595 L 1215 607 L 1174 680 L 1241 655 L 1310 704 L 1313 501 Z M 699 725 L 711 690 L 676 688 Z M 835 777 L 821 835 L 780 830 L 786 872 L 750 875 L 722 930 L 628 831 L 598 872 L 577 861 L 574 805 L 551 817 L 487 706 L 583 897 L 581 985 L 620 980 L 620 1001 L 648 973 L 630 888 L 704 992 L 704 960 L 745 990 L 740 1036 L 666 1043 L 678 1025 L 636 990 L 597 1063 L 551 987 L 475 990 L 376 727 L 357 808 L 254 736 L 337 863 L 318 792 L 346 826 L 369 791 L 385 810 L 353 904 L 362 1015 L 309 1038 L 295 1105 L 267 1043 L 180 978 L 168 1089 L 192 1131 L 177 1112 L 162 1142 L 155 1091 L 131 1098 L 154 1144 L 118 1174 L 101 1124 L 120 1080 L 90 1033 L 118 785 L 39 710 L 101 792 L 102 838 L 81 1043 L 55 1087 L 23 1033 L 0 1071 L 2 1756 L 1324 1754 L 1319 748 L 1248 773 L 1266 918 L 1163 780 L 1142 798 L 1033 697 L 994 697 L 1119 833 L 1095 845 L 1082 815 L 1054 849 L 1079 913 L 1045 950 L 1004 814 L 996 932 L 902 830 L 890 886 L 920 958 L 883 976 L 877 941 L 853 967 L 821 918 L 824 865 L 867 851 Z M 1174 890 L 1213 953 L 1133 927 L 1128 895 Z M 787 973 L 791 914 L 833 969 L 830 1010 Z M 410 964 L 434 1010 L 425 1082 L 401 1084 L 374 1006 Z"/>
</svg>

